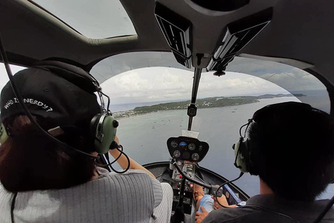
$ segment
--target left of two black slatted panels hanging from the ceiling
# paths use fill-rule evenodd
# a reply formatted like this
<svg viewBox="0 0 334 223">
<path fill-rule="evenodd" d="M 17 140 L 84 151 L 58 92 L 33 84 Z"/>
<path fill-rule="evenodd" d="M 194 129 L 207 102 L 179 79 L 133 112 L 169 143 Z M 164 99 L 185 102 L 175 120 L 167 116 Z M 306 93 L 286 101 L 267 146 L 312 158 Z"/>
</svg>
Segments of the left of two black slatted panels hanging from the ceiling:
<svg viewBox="0 0 334 223">
<path fill-rule="evenodd" d="M 175 59 L 191 68 L 191 22 L 159 2 L 154 14 Z"/>
</svg>

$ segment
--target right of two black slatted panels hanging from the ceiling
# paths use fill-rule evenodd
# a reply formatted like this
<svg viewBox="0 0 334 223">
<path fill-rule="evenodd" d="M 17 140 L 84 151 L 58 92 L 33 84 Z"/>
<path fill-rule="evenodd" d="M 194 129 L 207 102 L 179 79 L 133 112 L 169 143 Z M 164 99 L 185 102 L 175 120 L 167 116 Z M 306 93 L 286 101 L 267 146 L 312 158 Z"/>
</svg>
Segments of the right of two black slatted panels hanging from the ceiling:
<svg viewBox="0 0 334 223">
<path fill-rule="evenodd" d="M 225 70 L 234 56 L 269 24 L 271 15 L 272 8 L 269 8 L 228 24 L 221 45 L 212 56 L 207 70 Z"/>
</svg>

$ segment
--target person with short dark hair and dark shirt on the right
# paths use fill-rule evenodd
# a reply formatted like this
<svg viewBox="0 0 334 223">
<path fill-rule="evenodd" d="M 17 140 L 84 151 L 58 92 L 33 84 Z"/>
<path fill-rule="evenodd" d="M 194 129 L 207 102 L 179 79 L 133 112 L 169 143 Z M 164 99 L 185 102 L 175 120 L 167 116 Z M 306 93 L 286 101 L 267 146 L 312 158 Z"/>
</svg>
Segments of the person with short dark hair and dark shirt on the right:
<svg viewBox="0 0 334 223">
<path fill-rule="evenodd" d="M 260 177 L 260 194 L 237 208 L 223 208 L 214 199 L 216 210 L 201 208 L 196 223 L 315 222 L 329 203 L 316 198 L 333 183 L 333 118 L 310 105 L 285 102 L 258 110 L 246 125 L 248 139 L 241 136 L 234 146 L 235 165 Z M 218 201 L 228 206 L 225 197 Z M 321 222 L 334 222 L 333 208 Z"/>
</svg>

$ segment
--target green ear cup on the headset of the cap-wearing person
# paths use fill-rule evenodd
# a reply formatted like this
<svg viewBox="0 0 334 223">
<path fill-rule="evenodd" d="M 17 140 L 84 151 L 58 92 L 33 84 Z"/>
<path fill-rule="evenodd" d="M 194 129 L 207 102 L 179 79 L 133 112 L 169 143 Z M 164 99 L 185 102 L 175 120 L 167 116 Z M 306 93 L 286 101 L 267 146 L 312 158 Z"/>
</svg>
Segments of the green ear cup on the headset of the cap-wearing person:
<svg viewBox="0 0 334 223">
<path fill-rule="evenodd" d="M 109 147 L 113 141 L 115 141 L 117 126 L 114 127 L 114 121 L 116 121 L 113 116 L 105 116 L 102 123 L 102 141 L 95 140 L 95 151 L 100 154 L 108 153 Z M 96 129 L 96 134 L 98 130 Z"/>
</svg>

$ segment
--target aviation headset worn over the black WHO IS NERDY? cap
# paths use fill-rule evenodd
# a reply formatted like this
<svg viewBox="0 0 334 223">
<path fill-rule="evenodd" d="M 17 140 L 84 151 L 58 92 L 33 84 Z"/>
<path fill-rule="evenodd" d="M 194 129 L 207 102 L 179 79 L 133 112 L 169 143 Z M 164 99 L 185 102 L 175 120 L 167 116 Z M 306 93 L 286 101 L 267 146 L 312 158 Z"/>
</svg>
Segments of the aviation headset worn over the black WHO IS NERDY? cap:
<svg viewBox="0 0 334 223">
<path fill-rule="evenodd" d="M 101 113 L 95 114 L 89 125 L 89 132 L 92 137 L 94 137 L 94 148 L 97 153 L 105 154 L 108 153 L 111 144 L 115 140 L 116 130 L 118 127 L 118 121 L 113 118 L 111 112 L 109 111 L 109 97 L 102 93 L 102 89 L 100 87 L 99 82 L 90 75 L 90 73 L 85 70 L 78 68 L 76 66 L 72 66 L 67 63 L 62 63 L 59 61 L 40 61 L 35 63 L 33 68 L 40 68 L 44 70 L 51 71 L 54 75 L 61 77 L 68 82 L 78 86 L 84 91 L 88 92 L 97 92 L 101 101 Z M 108 98 L 108 105 L 104 108 L 104 100 L 103 95 Z M 53 130 L 48 131 L 53 137 L 56 137 L 58 134 L 62 134 L 63 130 L 60 128 L 55 128 Z M 6 132 L 6 128 L 3 123 L 1 123 L 0 128 L 0 142 L 3 143 L 8 137 Z M 74 148 L 75 149 L 75 148 Z M 75 149 L 78 151 L 77 149 Z M 80 151 L 79 151 L 80 152 Z M 84 153 L 81 151 L 80 153 Z M 84 153 L 91 157 L 89 153 Z"/>
</svg>

